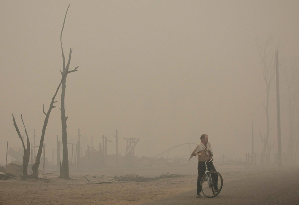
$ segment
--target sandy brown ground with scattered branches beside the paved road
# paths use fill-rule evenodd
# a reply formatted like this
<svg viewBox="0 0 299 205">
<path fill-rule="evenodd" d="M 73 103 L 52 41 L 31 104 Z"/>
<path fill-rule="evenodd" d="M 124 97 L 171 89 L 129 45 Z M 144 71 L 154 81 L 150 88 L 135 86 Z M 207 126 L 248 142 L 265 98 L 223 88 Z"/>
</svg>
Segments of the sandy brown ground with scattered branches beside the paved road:
<svg viewBox="0 0 299 205">
<path fill-rule="evenodd" d="M 269 175 L 284 168 L 245 168 L 244 165 L 214 162 L 223 181 L 229 182 L 257 175 Z M 286 168 L 285 168 L 286 169 Z M 148 182 L 109 181 L 115 175 L 136 174 L 155 177 L 161 174 L 180 174 L 177 178 L 165 178 Z M 0 181 L 0 205 L 18 204 L 141 204 L 196 189 L 196 165 L 190 163 L 178 167 L 118 168 L 93 171 L 72 171 L 73 180 L 58 179 L 58 173 L 40 175 L 40 179 L 10 179 Z M 95 176 L 96 178 L 93 178 Z M 87 179 L 90 180 L 89 182 Z M 43 178 L 43 179 L 41 179 Z M 97 182 L 112 182 L 96 184 Z M 34 199 L 34 200 L 33 200 Z"/>
</svg>

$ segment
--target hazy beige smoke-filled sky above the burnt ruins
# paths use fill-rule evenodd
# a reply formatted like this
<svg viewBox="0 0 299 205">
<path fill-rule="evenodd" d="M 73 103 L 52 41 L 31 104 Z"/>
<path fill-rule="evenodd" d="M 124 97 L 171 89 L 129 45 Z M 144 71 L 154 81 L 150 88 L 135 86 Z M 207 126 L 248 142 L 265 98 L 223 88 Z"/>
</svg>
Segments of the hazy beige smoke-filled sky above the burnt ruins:
<svg viewBox="0 0 299 205">
<path fill-rule="evenodd" d="M 66 82 L 69 143 L 77 142 L 80 128 L 83 150 L 91 135 L 95 148 L 105 135 L 114 154 L 118 129 L 121 155 L 123 138 L 135 137 L 135 153 L 151 157 L 206 133 L 215 158 L 243 157 L 251 152 L 253 115 L 255 151 L 262 151 L 266 85 L 255 39 L 263 44 L 271 35 L 273 49 L 279 39 L 283 45 L 280 59 L 298 58 L 298 1 L 0 0 L 1 164 L 7 140 L 21 146 L 12 113 L 25 136 L 23 114 L 30 142 L 36 129 L 39 143 L 43 104 L 47 111 L 61 79 L 69 3 L 62 44 L 66 61 L 73 49 L 70 68 L 79 66 Z M 62 135 L 58 93 L 44 141 L 50 161 Z M 276 152 L 275 81 L 270 95 Z M 287 113 L 281 115 L 285 137 Z M 286 145 L 283 139 L 283 151 Z M 170 153 L 188 154 L 188 147 Z"/>
</svg>

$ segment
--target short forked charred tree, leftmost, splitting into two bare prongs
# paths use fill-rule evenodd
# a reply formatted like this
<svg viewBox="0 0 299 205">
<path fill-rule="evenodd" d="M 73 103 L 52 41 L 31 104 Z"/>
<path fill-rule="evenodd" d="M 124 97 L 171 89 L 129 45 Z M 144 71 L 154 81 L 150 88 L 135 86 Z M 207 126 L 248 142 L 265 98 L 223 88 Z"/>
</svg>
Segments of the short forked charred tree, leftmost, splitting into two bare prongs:
<svg viewBox="0 0 299 205">
<path fill-rule="evenodd" d="M 23 179 L 24 178 L 28 178 L 29 175 L 27 174 L 27 170 L 28 170 L 28 163 L 29 163 L 29 159 L 30 159 L 30 142 L 29 142 L 29 137 L 28 137 L 28 134 L 27 134 L 27 131 L 26 131 L 26 127 L 25 127 L 25 124 L 24 124 L 24 121 L 23 121 L 23 116 L 21 115 L 21 119 L 22 119 L 22 122 L 23 122 L 23 125 L 24 125 L 24 129 L 25 129 L 25 133 L 26 133 L 26 136 L 27 136 L 27 149 L 25 148 L 25 144 L 24 144 L 24 140 L 21 136 L 21 133 L 19 131 L 19 128 L 18 128 L 18 125 L 16 124 L 16 120 L 15 120 L 15 117 L 13 116 L 12 114 L 12 119 L 13 119 L 13 125 L 15 126 L 16 128 L 16 131 L 18 133 L 18 136 L 19 138 L 22 140 L 22 145 L 23 145 L 23 148 L 24 148 L 24 156 L 23 156 L 23 164 L 22 164 L 22 167 L 23 167 Z"/>
</svg>

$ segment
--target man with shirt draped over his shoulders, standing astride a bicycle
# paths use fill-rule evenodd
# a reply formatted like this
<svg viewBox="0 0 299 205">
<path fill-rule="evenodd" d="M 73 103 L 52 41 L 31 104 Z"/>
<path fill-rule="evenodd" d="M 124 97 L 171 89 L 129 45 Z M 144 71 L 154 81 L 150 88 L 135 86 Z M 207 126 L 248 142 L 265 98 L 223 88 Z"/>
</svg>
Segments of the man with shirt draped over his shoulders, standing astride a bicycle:
<svg viewBox="0 0 299 205">
<path fill-rule="evenodd" d="M 211 144 L 208 142 L 209 141 L 208 135 L 202 134 L 200 136 L 200 140 L 201 142 L 196 144 L 194 151 L 187 159 L 187 161 L 189 161 L 193 156 L 198 157 L 198 167 L 197 167 L 198 177 L 197 177 L 197 184 L 196 184 L 197 185 L 196 197 L 199 198 L 201 197 L 200 192 L 202 191 L 200 186 L 200 180 L 206 172 L 206 164 L 204 161 L 210 161 L 210 159 L 212 159 L 213 161 L 213 151 L 212 151 Z M 212 161 L 207 163 L 208 170 L 216 171 Z M 217 181 L 218 179 L 215 180 Z"/>
</svg>

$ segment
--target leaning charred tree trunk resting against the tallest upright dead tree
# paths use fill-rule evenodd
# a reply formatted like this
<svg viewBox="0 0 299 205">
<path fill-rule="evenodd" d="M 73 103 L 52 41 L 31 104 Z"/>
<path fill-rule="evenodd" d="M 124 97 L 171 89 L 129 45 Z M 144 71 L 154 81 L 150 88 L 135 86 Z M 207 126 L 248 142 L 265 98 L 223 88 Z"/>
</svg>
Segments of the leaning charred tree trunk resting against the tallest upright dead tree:
<svg viewBox="0 0 299 205">
<path fill-rule="evenodd" d="M 62 81 L 66 78 L 67 74 L 69 74 L 71 72 L 75 72 L 75 71 L 77 71 L 77 67 L 73 70 L 69 70 L 68 72 L 66 72 L 62 76 L 61 81 L 60 81 L 60 83 L 59 83 L 59 85 L 56 89 L 56 92 L 55 92 L 54 96 L 52 97 L 52 101 L 50 103 L 49 110 L 47 111 L 47 113 L 45 113 L 44 106 L 43 106 L 43 112 L 45 114 L 45 120 L 44 120 L 44 126 L 43 126 L 41 136 L 40 136 L 40 145 L 39 145 L 39 148 L 38 148 L 38 151 L 37 151 L 35 163 L 32 165 L 32 171 L 33 171 L 32 177 L 34 177 L 34 178 L 38 178 L 38 167 L 40 165 L 40 156 L 41 156 L 41 153 L 42 153 L 42 150 L 43 150 L 44 137 L 45 137 L 45 133 L 46 133 L 47 124 L 48 124 L 50 113 L 51 113 L 52 109 L 56 108 L 56 106 L 53 105 L 55 102 L 57 102 L 57 101 L 55 101 L 55 97 L 58 93 L 58 90 L 59 90 L 60 86 L 62 85 Z"/>
</svg>

